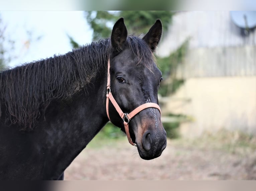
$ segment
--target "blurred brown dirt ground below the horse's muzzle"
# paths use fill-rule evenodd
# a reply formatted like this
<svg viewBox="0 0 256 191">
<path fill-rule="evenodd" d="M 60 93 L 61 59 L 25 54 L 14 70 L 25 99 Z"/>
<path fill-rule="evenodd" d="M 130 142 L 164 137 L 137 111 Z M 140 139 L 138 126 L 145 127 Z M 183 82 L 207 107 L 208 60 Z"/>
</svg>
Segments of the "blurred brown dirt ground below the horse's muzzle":
<svg viewBox="0 0 256 191">
<path fill-rule="evenodd" d="M 243 147 L 238 152 L 209 145 L 168 139 L 162 155 L 149 161 L 141 159 L 125 137 L 98 147 L 88 145 L 67 168 L 64 179 L 256 180 L 255 149 Z"/>
</svg>

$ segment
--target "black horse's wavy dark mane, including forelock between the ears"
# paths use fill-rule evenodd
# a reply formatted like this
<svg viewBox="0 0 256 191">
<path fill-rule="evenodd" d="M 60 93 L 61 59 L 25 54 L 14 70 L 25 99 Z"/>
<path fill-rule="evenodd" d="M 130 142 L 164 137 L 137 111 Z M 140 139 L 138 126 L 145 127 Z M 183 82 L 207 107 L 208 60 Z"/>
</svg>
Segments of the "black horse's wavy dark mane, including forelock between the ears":
<svg viewBox="0 0 256 191">
<path fill-rule="evenodd" d="M 139 61 L 148 68 L 154 64 L 148 45 L 135 36 L 127 43 Z M 30 130 L 52 100 L 71 98 L 88 84 L 99 70 L 107 67 L 110 39 L 92 42 L 64 55 L 25 63 L 0 73 L 0 117 L 5 104 L 5 122 Z M 2 105 L 1 105 L 2 104 Z"/>
</svg>

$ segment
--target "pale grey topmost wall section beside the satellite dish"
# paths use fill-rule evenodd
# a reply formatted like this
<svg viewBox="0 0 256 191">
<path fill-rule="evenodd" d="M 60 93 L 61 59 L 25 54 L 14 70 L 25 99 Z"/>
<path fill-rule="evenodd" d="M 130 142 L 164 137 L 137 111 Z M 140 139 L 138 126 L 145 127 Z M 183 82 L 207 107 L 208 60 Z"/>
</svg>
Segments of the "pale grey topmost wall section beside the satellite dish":
<svg viewBox="0 0 256 191">
<path fill-rule="evenodd" d="M 188 37 L 190 49 L 256 45 L 256 30 L 249 36 L 243 35 L 232 22 L 229 11 L 184 11 L 172 17 L 157 54 L 168 56 Z"/>
</svg>

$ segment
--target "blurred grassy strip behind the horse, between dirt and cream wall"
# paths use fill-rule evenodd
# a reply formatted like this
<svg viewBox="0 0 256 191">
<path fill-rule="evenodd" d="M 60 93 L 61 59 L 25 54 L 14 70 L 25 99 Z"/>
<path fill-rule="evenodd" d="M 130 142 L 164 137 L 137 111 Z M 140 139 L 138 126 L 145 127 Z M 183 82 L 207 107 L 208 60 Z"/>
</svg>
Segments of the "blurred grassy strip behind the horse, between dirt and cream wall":
<svg viewBox="0 0 256 191">
<path fill-rule="evenodd" d="M 241 154 L 256 152 L 256 136 L 241 131 L 219 130 L 216 133 L 205 132 L 194 139 L 186 139 L 178 136 L 178 124 L 169 123 L 165 128 L 168 138 L 172 138 L 172 145 L 177 147 L 217 149 L 229 153 Z M 176 133 L 176 134 L 175 134 Z M 120 141 L 128 141 L 124 132 L 112 123 L 105 127 L 87 145 L 89 148 L 101 148 L 104 146 L 117 147 Z"/>
</svg>

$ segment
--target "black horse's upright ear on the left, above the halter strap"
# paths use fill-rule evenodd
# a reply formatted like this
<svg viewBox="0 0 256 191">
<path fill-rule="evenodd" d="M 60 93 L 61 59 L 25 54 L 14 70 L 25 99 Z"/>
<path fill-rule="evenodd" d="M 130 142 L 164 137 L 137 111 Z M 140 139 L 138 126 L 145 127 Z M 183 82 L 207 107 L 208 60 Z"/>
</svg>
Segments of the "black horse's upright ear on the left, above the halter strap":
<svg viewBox="0 0 256 191">
<path fill-rule="evenodd" d="M 113 48 L 120 51 L 127 38 L 127 29 L 124 24 L 124 18 L 120 18 L 114 25 L 111 34 L 111 44 Z"/>
</svg>

